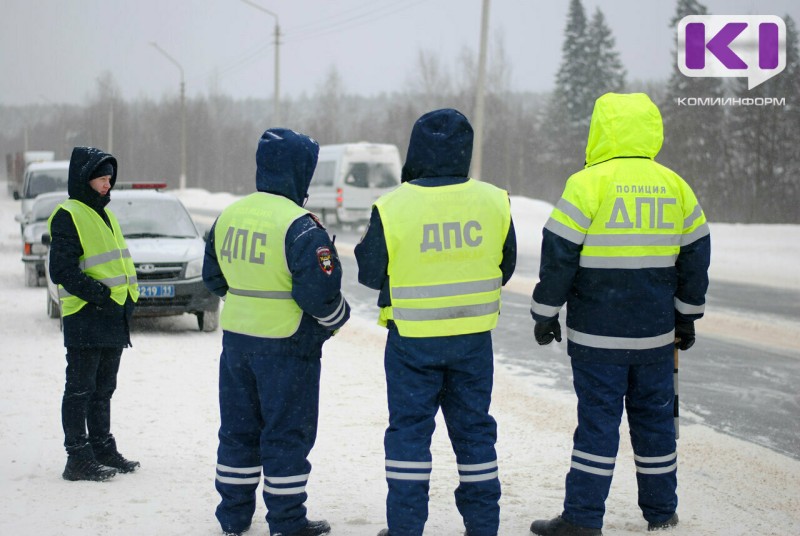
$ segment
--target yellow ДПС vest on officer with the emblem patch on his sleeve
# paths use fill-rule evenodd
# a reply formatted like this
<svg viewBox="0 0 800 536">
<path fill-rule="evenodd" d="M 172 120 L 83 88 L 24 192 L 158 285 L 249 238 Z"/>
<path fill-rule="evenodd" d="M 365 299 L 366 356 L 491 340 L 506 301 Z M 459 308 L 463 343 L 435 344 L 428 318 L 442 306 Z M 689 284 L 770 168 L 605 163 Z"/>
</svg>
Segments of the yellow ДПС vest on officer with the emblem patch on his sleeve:
<svg viewBox="0 0 800 536">
<path fill-rule="evenodd" d="M 214 247 L 228 283 L 223 330 L 270 339 L 297 331 L 303 311 L 292 298 L 284 243 L 291 224 L 305 214 L 291 200 L 266 192 L 250 194 L 222 211 Z"/>
</svg>

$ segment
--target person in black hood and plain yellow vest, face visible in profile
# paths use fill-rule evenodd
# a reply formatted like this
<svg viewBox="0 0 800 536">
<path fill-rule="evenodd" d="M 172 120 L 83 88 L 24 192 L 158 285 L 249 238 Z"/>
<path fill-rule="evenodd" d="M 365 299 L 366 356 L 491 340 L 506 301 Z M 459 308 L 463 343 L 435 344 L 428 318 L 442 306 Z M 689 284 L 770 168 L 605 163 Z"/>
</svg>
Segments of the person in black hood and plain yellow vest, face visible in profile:
<svg viewBox="0 0 800 536">
<path fill-rule="evenodd" d="M 128 322 L 139 297 L 136 270 L 114 214 L 106 209 L 117 180 L 117 160 L 92 147 L 75 147 L 69 199 L 50 216 L 49 273 L 58 285 L 67 371 L 61 420 L 66 480 L 107 480 L 134 471 L 111 434 L 111 396 Z"/>
</svg>

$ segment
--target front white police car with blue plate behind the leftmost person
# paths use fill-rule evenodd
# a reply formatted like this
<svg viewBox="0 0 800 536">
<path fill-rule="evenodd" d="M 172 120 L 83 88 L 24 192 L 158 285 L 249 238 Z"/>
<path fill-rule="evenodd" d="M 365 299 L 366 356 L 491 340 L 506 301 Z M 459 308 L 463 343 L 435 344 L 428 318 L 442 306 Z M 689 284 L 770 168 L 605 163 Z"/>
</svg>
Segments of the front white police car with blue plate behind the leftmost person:
<svg viewBox="0 0 800 536">
<path fill-rule="evenodd" d="M 203 284 L 205 240 L 165 184 L 120 183 L 108 208 L 117 216 L 136 267 L 136 316 L 197 316 L 202 331 L 219 326 L 219 298 Z M 60 316 L 58 287 L 47 277 L 47 313 Z"/>
</svg>

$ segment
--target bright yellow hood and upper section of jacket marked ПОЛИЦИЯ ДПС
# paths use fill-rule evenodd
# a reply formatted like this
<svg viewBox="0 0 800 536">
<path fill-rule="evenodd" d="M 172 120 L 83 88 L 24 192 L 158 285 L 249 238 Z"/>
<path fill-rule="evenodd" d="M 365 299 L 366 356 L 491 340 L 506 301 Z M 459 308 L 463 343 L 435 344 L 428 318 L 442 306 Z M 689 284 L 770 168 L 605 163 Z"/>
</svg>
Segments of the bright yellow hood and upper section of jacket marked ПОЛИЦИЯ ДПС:
<svg viewBox="0 0 800 536">
<path fill-rule="evenodd" d="M 586 169 L 569 178 L 545 225 L 583 245 L 581 267 L 669 268 L 681 246 L 708 234 L 689 185 L 652 160 L 662 142 L 661 115 L 647 95 L 598 99 Z"/>
</svg>

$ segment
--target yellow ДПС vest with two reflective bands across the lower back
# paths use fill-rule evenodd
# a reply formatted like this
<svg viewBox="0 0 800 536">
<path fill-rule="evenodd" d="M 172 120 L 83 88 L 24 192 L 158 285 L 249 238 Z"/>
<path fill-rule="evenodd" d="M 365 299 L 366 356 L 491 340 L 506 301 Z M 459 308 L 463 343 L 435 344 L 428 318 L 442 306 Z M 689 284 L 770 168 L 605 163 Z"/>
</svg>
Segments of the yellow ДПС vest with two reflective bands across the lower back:
<svg viewBox="0 0 800 536">
<path fill-rule="evenodd" d="M 489 331 L 497 325 L 508 193 L 468 180 L 448 186 L 403 183 L 375 203 L 389 253 L 392 320 L 405 337 Z"/>
</svg>

